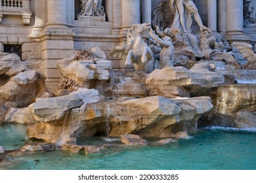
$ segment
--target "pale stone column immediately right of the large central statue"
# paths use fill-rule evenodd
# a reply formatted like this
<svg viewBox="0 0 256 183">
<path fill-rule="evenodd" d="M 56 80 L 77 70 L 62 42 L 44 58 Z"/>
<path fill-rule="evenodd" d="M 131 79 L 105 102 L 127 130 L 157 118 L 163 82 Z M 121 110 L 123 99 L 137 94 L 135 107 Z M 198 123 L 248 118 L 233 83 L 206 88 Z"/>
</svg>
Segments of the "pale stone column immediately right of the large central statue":
<svg viewBox="0 0 256 183">
<path fill-rule="evenodd" d="M 208 27 L 217 32 L 217 0 L 207 0 Z"/>
</svg>

